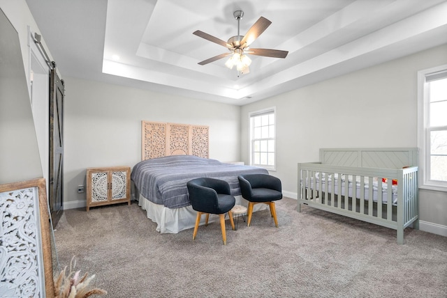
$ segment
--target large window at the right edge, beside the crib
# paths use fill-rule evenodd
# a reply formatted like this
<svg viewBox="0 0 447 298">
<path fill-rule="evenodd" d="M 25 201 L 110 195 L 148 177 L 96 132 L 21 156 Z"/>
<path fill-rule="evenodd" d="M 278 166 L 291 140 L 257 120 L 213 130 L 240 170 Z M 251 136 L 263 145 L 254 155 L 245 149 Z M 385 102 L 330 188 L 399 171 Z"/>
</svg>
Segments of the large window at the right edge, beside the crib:
<svg viewBox="0 0 447 298">
<path fill-rule="evenodd" d="M 447 65 L 418 72 L 420 187 L 447 191 Z"/>
</svg>

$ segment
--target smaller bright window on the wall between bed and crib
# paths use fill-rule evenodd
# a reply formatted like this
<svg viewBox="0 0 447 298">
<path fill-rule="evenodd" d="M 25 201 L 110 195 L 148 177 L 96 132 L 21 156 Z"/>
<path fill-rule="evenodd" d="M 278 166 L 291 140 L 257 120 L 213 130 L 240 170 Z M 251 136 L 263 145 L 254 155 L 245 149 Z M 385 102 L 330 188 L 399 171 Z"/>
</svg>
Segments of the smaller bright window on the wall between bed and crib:
<svg viewBox="0 0 447 298">
<path fill-rule="evenodd" d="M 275 110 L 250 113 L 250 162 L 253 166 L 275 169 Z"/>
</svg>

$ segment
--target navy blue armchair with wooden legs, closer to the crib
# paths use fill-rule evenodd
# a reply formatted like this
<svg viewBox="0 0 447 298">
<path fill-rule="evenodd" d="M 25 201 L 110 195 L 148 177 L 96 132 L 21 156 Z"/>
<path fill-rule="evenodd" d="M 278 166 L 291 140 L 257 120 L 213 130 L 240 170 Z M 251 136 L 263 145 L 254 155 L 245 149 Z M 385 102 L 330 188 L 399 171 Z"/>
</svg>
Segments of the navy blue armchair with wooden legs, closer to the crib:
<svg viewBox="0 0 447 298">
<path fill-rule="evenodd" d="M 270 214 L 274 219 L 274 225 L 278 227 L 277 212 L 274 201 L 281 200 L 281 180 L 268 174 L 246 174 L 239 175 L 240 190 L 242 197 L 249 201 L 247 211 L 247 226 L 251 223 L 253 206 L 258 203 L 269 205 Z"/>
</svg>

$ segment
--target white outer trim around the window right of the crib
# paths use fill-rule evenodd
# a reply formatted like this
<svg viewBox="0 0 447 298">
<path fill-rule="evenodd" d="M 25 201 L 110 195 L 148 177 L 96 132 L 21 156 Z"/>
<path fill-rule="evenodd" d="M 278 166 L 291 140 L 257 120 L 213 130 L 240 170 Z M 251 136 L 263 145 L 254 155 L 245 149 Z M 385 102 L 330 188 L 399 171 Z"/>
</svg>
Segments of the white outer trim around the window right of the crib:
<svg viewBox="0 0 447 298">
<path fill-rule="evenodd" d="M 428 68 L 425 70 L 418 71 L 418 147 L 419 147 L 419 188 L 421 189 L 431 189 L 436 191 L 447 191 L 447 187 L 443 183 L 442 185 L 434 184 L 433 181 L 427 181 L 427 135 L 425 133 L 426 127 L 428 126 L 427 120 L 429 116 L 427 115 L 428 109 L 425 107 L 427 105 L 426 90 L 425 90 L 425 78 L 427 75 L 433 74 L 435 72 L 441 72 L 447 70 L 447 64 L 439 65 L 434 68 Z"/>
</svg>

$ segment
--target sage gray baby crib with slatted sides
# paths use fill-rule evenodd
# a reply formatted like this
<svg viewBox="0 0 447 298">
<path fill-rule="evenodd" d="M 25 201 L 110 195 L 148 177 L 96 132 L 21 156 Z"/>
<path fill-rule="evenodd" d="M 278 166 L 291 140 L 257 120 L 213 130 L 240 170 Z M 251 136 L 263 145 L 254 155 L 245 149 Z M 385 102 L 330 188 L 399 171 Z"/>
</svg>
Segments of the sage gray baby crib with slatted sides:
<svg viewBox="0 0 447 298">
<path fill-rule="evenodd" d="M 298 212 L 309 205 L 397 230 L 418 228 L 418 148 L 322 148 L 298 164 Z"/>
</svg>

